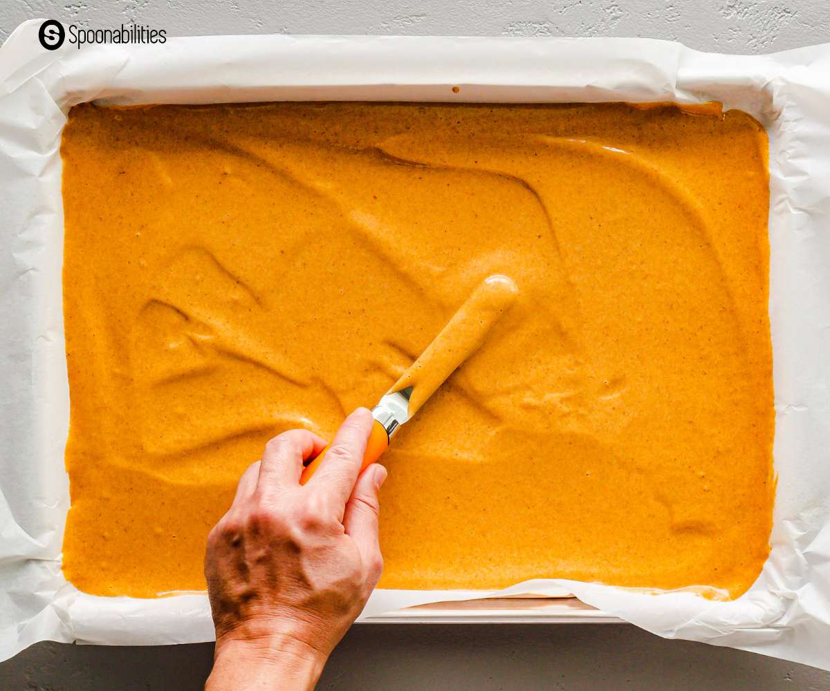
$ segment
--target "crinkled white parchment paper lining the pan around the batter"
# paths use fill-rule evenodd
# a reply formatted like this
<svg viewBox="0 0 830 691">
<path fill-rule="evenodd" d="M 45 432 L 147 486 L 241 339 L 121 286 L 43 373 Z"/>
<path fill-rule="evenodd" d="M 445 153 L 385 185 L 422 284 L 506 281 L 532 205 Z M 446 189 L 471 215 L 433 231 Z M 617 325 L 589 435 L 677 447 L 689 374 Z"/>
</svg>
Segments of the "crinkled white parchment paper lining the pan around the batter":
<svg viewBox="0 0 830 691">
<path fill-rule="evenodd" d="M 212 640 L 202 594 L 84 595 L 61 575 L 69 504 L 61 128 L 71 105 L 251 100 L 721 100 L 770 134 L 778 494 L 772 551 L 740 599 L 549 580 L 666 637 L 830 669 L 830 44 L 721 56 L 639 39 L 205 36 L 66 43 L 27 22 L 0 49 L 0 658 L 38 640 Z M 461 87 L 453 94 L 452 85 Z M 363 616 L 481 591 L 376 591 Z"/>
</svg>

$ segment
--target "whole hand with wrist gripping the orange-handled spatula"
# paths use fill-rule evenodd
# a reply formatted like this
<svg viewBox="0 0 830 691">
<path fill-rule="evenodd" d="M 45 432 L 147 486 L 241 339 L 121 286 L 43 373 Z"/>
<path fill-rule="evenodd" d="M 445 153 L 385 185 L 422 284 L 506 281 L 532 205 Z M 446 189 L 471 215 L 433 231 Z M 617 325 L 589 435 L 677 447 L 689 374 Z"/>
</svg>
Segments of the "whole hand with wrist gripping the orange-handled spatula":
<svg viewBox="0 0 830 691">
<path fill-rule="evenodd" d="M 359 408 L 325 462 L 300 485 L 325 440 L 291 430 L 242 475 L 207 538 L 205 576 L 216 626 L 207 689 L 310 689 L 378 582 L 381 465 L 359 474 L 373 418 Z"/>
</svg>

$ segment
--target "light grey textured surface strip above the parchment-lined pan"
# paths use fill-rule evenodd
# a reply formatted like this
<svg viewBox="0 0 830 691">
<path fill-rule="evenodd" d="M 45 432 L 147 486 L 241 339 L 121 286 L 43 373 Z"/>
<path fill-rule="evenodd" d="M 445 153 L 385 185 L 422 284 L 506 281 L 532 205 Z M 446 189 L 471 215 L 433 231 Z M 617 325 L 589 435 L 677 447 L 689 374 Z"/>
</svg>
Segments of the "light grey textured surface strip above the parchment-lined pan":
<svg viewBox="0 0 830 691">
<path fill-rule="evenodd" d="M 32 17 L 93 28 L 133 21 L 171 36 L 647 36 L 725 53 L 830 41 L 828 0 L 0 0 L 0 41 Z"/>
</svg>

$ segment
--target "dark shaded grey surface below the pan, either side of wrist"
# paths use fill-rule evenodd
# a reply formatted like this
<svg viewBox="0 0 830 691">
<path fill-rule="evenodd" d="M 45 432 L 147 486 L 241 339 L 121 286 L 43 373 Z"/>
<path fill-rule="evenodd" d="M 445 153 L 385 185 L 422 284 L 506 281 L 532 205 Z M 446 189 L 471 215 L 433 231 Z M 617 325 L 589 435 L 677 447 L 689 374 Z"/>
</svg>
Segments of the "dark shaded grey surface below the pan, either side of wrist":
<svg viewBox="0 0 830 691">
<path fill-rule="evenodd" d="M 0 689 L 201 689 L 211 645 L 98 648 L 38 645 L 0 665 Z M 275 687 L 276 688 L 276 687 Z M 318 689 L 830 689 L 818 669 L 702 643 L 662 640 L 633 626 L 358 625 Z"/>
</svg>

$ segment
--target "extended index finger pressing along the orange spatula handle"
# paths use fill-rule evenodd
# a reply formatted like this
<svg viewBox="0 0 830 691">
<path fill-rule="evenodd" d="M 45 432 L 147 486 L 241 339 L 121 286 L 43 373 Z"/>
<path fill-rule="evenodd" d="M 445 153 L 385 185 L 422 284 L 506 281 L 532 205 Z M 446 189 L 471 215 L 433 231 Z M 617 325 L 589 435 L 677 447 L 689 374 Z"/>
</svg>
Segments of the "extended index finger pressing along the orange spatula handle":
<svg viewBox="0 0 830 691">
<path fill-rule="evenodd" d="M 347 417 L 325 452 L 320 470 L 306 484 L 327 494 L 341 512 L 354 489 L 373 424 L 374 417 L 367 408 L 358 408 Z"/>
</svg>

